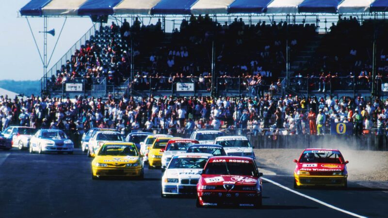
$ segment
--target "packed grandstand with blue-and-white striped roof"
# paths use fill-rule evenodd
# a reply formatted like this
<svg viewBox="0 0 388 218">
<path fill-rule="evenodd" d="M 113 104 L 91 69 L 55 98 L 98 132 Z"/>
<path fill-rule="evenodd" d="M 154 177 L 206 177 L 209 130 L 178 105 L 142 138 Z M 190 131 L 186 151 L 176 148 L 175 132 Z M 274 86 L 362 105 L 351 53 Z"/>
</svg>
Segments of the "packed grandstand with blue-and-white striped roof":
<svg viewBox="0 0 388 218">
<path fill-rule="evenodd" d="M 96 21 L 42 78 L 44 93 L 386 95 L 388 0 L 61 2 L 20 10 Z"/>
</svg>

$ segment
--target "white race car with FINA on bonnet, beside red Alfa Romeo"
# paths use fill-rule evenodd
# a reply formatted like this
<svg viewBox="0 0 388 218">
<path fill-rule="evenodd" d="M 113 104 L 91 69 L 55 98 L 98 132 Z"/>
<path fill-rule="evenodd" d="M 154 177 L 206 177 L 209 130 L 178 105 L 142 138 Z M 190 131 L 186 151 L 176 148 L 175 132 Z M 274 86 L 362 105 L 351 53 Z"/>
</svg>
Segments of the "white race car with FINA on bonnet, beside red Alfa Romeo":
<svg viewBox="0 0 388 218">
<path fill-rule="evenodd" d="M 162 176 L 162 197 L 196 194 L 198 179 L 211 156 L 204 153 L 174 156 Z"/>
</svg>

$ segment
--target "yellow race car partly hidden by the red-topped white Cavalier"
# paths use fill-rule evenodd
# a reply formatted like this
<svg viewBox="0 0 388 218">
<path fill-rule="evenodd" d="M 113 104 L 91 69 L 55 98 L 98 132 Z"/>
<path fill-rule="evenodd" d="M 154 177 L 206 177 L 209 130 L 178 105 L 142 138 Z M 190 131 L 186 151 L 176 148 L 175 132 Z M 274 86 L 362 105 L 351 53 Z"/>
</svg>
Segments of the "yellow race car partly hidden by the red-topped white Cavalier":
<svg viewBox="0 0 388 218">
<path fill-rule="evenodd" d="M 158 137 L 152 146 L 148 148 L 148 169 L 162 167 L 162 156 L 164 149 L 166 148 L 167 142 L 173 139 L 180 138 Z"/>
</svg>

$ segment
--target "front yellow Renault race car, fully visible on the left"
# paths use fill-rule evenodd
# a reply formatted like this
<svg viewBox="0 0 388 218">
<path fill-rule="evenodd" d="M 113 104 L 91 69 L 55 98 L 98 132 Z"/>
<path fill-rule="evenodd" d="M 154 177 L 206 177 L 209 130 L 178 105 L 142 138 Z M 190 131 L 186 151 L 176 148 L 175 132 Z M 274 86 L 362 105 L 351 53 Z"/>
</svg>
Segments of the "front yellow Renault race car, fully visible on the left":
<svg viewBox="0 0 388 218">
<path fill-rule="evenodd" d="M 126 176 L 144 178 L 142 156 L 132 142 L 107 142 L 92 161 L 92 178 Z"/>
</svg>

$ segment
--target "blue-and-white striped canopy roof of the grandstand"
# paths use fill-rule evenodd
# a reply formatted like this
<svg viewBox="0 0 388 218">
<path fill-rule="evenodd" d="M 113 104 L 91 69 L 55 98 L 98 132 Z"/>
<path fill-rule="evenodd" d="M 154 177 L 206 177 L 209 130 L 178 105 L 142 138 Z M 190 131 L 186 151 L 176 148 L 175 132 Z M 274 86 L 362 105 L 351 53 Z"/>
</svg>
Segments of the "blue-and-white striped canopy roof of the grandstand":
<svg viewBox="0 0 388 218">
<path fill-rule="evenodd" d="M 22 16 L 369 13 L 388 0 L 31 0 Z"/>
</svg>

